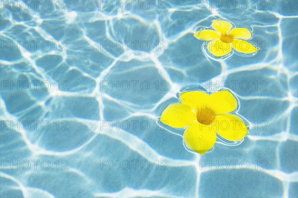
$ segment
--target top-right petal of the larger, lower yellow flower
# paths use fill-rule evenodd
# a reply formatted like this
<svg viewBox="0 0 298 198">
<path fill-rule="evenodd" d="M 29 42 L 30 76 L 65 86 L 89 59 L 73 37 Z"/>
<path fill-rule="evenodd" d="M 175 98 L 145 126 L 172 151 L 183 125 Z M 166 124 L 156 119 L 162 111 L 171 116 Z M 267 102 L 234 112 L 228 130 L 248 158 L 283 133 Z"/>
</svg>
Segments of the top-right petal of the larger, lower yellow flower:
<svg viewBox="0 0 298 198">
<path fill-rule="evenodd" d="M 219 115 L 234 111 L 237 107 L 237 100 L 228 90 L 223 90 L 210 95 L 210 105 Z"/>
</svg>

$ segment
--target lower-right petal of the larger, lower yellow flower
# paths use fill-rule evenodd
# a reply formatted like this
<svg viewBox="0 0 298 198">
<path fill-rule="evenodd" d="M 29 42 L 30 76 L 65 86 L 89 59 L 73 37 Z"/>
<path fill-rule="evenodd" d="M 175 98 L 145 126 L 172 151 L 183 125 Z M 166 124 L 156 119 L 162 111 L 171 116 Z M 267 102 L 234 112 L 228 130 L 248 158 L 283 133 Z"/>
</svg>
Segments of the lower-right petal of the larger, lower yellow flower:
<svg viewBox="0 0 298 198">
<path fill-rule="evenodd" d="M 213 128 L 224 139 L 239 141 L 247 133 L 245 124 L 235 115 L 222 114 L 212 122 Z"/>
</svg>

